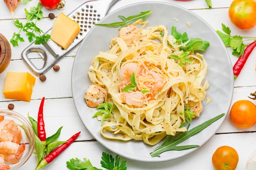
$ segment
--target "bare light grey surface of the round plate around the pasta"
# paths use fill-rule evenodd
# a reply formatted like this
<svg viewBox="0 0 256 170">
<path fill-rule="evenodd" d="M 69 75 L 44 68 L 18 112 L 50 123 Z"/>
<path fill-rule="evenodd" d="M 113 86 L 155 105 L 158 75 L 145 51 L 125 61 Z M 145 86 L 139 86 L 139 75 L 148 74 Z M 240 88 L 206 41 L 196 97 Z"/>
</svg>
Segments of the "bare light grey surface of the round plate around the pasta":
<svg viewBox="0 0 256 170">
<path fill-rule="evenodd" d="M 174 25 L 177 31 L 187 32 L 189 38 L 201 38 L 210 42 L 210 47 L 203 53 L 208 63 L 208 73 L 206 79 L 210 87 L 207 90 L 207 96 L 213 100 L 209 104 L 204 104 L 204 109 L 199 119 L 193 120 L 190 128 L 193 128 L 204 121 L 207 121 L 221 113 L 228 113 L 233 95 L 234 78 L 231 61 L 225 46 L 220 40 L 216 31 L 209 26 L 202 18 L 191 11 L 174 4 L 164 2 L 141 2 L 131 4 L 108 14 L 101 20 L 102 23 L 117 22 L 121 19 L 117 15 L 130 16 L 136 15 L 141 11 L 152 10 L 152 13 L 146 18 L 148 26 L 157 26 L 162 24 L 169 28 Z M 177 20 L 174 20 L 177 18 Z M 191 27 L 187 25 L 191 24 Z M 101 136 L 101 122 L 92 115 L 96 112 L 85 103 L 84 93 L 91 84 L 88 78 L 89 66 L 92 58 L 99 51 L 107 51 L 110 45 L 110 39 L 118 34 L 118 28 L 94 26 L 81 43 L 76 54 L 72 69 L 72 94 L 76 110 L 83 121 L 83 124 L 90 131 L 97 141 L 109 150 L 123 157 L 148 162 L 167 161 L 187 155 L 198 148 L 168 151 L 161 154 L 161 157 L 151 157 L 152 152 L 157 146 L 148 146 L 141 141 L 117 141 L 108 140 Z M 226 114 L 227 115 L 227 114 Z M 200 145 L 205 144 L 218 130 L 224 121 L 225 116 L 214 122 L 198 134 L 184 141 L 182 145 Z"/>
</svg>

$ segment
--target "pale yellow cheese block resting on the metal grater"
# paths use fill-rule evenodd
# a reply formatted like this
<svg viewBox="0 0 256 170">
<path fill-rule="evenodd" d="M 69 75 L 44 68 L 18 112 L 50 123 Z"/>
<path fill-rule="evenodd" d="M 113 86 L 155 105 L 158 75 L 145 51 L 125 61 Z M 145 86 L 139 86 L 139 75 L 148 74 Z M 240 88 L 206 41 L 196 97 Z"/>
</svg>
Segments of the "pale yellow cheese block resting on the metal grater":
<svg viewBox="0 0 256 170">
<path fill-rule="evenodd" d="M 67 49 L 80 32 L 79 24 L 63 13 L 54 21 L 51 39 L 63 49 Z"/>
</svg>

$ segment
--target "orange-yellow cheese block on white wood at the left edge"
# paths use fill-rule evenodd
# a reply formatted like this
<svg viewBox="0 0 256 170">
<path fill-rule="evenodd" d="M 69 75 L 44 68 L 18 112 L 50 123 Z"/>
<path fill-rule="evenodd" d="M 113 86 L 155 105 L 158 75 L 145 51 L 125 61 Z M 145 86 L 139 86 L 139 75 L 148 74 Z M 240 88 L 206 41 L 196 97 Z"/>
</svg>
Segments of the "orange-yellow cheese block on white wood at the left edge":
<svg viewBox="0 0 256 170">
<path fill-rule="evenodd" d="M 28 72 L 7 72 L 3 93 L 7 99 L 30 102 L 36 78 Z"/>
</svg>

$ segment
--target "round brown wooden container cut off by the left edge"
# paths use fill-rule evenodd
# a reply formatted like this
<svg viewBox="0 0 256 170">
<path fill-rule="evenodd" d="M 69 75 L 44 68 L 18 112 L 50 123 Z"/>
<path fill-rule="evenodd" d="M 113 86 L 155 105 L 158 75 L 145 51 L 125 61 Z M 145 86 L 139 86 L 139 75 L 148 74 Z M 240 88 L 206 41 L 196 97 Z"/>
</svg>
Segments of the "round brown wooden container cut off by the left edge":
<svg viewBox="0 0 256 170">
<path fill-rule="evenodd" d="M 11 46 L 8 40 L 0 33 L 0 73 L 2 73 L 11 61 Z"/>
</svg>

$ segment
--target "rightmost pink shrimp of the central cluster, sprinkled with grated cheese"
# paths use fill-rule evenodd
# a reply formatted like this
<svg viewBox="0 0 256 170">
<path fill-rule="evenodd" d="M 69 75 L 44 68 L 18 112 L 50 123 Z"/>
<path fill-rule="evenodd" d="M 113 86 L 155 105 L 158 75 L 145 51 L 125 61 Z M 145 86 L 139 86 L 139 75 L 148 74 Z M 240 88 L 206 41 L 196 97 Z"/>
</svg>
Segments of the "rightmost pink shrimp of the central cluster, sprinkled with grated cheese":
<svg viewBox="0 0 256 170">
<path fill-rule="evenodd" d="M 148 89 L 151 91 L 150 94 L 148 94 L 148 97 L 150 97 L 150 100 L 154 99 L 155 95 L 160 91 L 162 86 L 164 85 L 162 77 L 154 72 L 154 71 L 148 71 L 148 74 L 146 75 L 147 79 L 150 81 L 144 82 L 144 85 L 148 87 Z"/>
</svg>

